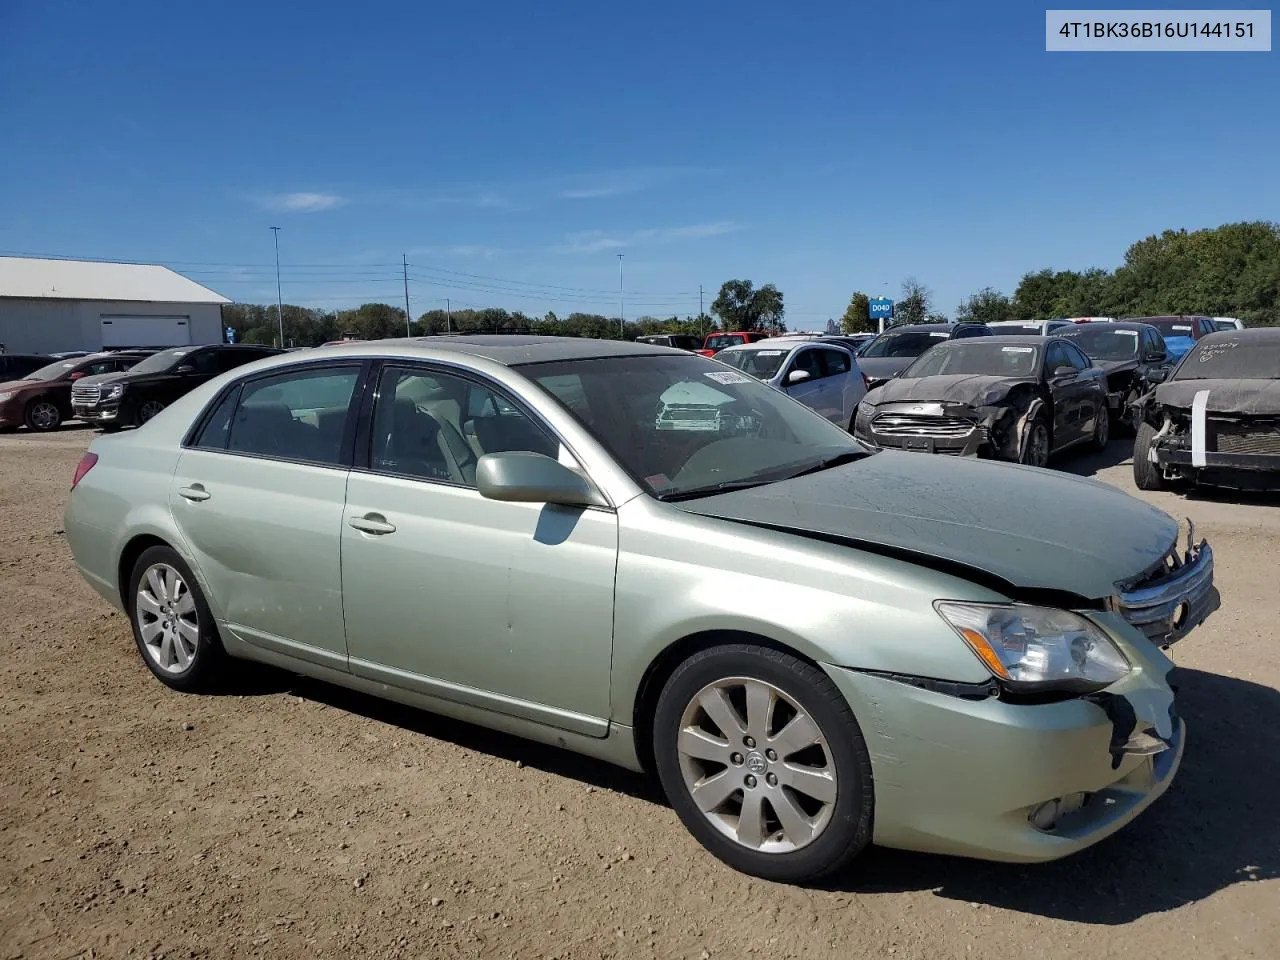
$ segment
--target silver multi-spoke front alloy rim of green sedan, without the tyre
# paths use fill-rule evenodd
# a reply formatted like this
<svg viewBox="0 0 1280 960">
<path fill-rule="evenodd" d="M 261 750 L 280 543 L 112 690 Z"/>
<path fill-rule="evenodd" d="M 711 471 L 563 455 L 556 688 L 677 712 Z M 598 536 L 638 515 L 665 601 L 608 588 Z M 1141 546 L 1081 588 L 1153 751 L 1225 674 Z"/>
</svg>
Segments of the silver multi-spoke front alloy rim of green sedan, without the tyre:
<svg viewBox="0 0 1280 960">
<path fill-rule="evenodd" d="M 826 736 L 772 684 L 727 677 L 703 687 L 685 708 L 676 749 L 694 804 L 744 847 L 791 852 L 831 823 L 838 783 Z"/>
</svg>

